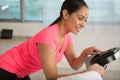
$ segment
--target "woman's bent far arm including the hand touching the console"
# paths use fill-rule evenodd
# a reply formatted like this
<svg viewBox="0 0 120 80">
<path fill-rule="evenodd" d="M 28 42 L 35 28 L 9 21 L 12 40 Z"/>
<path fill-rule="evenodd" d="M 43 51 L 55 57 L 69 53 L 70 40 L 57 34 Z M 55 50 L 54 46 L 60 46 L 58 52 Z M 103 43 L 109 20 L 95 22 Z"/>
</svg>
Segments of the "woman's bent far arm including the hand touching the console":
<svg viewBox="0 0 120 80">
<path fill-rule="evenodd" d="M 88 57 L 88 55 L 94 55 L 100 52 L 99 49 L 97 49 L 95 46 L 88 47 L 83 50 L 83 52 L 80 54 L 80 56 L 76 57 L 75 51 L 73 49 L 73 45 L 71 44 L 65 51 L 65 56 L 71 65 L 71 67 L 74 70 L 79 69 L 85 62 L 85 59 Z"/>
</svg>

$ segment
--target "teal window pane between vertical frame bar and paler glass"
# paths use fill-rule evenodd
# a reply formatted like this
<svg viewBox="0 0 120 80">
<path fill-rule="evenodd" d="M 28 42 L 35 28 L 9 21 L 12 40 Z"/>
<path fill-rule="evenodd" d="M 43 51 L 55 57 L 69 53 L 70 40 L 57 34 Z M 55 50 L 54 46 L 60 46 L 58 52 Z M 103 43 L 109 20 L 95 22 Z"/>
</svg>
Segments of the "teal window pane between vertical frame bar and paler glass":
<svg viewBox="0 0 120 80">
<path fill-rule="evenodd" d="M 25 21 L 42 21 L 43 20 L 43 0 L 24 0 L 24 19 Z"/>
</svg>

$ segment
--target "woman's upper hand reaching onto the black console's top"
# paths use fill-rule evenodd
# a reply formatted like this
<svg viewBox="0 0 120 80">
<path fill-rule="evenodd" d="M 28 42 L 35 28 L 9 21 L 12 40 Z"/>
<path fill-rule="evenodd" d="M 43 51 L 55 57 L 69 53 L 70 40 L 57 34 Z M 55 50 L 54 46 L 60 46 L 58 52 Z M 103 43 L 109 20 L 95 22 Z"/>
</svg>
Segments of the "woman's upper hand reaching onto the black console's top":
<svg viewBox="0 0 120 80">
<path fill-rule="evenodd" d="M 102 52 L 102 51 L 97 49 L 95 46 L 88 47 L 88 48 L 83 50 L 83 53 L 87 54 L 87 55 L 95 55 L 95 54 L 98 54 L 99 52 Z"/>
</svg>

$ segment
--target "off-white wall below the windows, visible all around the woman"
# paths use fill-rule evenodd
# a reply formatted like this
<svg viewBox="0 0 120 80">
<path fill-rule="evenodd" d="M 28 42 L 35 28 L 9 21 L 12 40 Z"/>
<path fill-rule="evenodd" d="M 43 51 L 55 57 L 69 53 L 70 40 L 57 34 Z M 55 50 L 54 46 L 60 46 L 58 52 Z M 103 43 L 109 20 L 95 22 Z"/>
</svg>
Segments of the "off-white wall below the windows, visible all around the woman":
<svg viewBox="0 0 120 80">
<path fill-rule="evenodd" d="M 41 23 L 6 23 L 0 22 L 0 30 L 13 29 L 14 36 L 33 36 L 46 27 Z M 91 25 L 88 24 L 78 35 L 72 35 L 73 44 L 77 55 L 89 46 L 97 46 L 101 50 L 120 46 L 120 25 Z M 63 58 L 60 66 L 69 66 Z M 113 70 L 119 70 L 120 61 L 111 64 Z M 114 68 L 113 68 L 114 67 Z"/>
</svg>

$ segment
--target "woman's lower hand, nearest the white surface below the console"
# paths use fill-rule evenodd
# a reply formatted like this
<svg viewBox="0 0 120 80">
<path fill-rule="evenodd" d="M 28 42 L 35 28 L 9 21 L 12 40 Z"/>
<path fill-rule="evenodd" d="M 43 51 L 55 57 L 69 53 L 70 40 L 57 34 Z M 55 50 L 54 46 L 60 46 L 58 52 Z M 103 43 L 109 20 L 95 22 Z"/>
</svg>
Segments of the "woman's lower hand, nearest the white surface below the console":
<svg viewBox="0 0 120 80">
<path fill-rule="evenodd" d="M 105 69 L 99 64 L 93 64 L 88 68 L 88 71 L 92 71 L 92 70 L 97 71 L 102 77 L 104 76 Z"/>
</svg>

